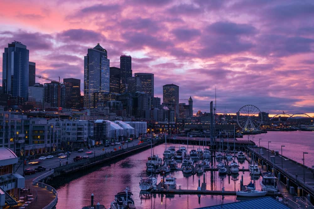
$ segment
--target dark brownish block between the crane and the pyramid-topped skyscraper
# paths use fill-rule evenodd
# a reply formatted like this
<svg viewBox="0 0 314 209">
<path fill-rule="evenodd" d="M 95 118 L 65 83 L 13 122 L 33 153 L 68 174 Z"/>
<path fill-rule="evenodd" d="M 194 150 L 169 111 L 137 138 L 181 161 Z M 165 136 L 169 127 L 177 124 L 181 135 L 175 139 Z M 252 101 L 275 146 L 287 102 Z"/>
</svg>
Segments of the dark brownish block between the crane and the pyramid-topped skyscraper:
<svg viewBox="0 0 314 209">
<path fill-rule="evenodd" d="M 79 108 L 81 103 L 81 80 L 76 78 L 64 78 L 65 107 Z"/>
</svg>

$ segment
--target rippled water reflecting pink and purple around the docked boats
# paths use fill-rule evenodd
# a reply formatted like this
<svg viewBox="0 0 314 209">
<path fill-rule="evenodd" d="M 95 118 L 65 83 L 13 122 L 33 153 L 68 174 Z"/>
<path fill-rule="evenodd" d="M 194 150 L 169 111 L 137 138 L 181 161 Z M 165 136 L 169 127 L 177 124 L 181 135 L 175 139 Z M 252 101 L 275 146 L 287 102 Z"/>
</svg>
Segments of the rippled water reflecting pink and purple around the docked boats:
<svg viewBox="0 0 314 209">
<path fill-rule="evenodd" d="M 303 151 L 311 153 L 314 132 L 269 132 L 267 134 L 255 135 L 254 141 L 258 142 L 258 138 L 262 138 L 261 145 L 265 147 L 267 147 L 267 141 L 272 141 L 269 147 L 270 149 L 280 150 L 280 146 L 285 145 L 283 154 L 297 161 L 301 161 Z M 250 136 L 250 139 L 252 139 L 252 136 Z M 176 148 L 178 147 L 179 145 L 176 144 Z M 195 146 L 194 148 L 197 147 L 198 146 Z M 191 148 L 192 146 L 190 145 L 189 150 Z M 154 148 L 154 153 L 162 155 L 163 151 L 163 144 Z M 197 195 L 150 196 L 140 194 L 138 182 L 141 177 L 147 176 L 145 162 L 149 155 L 150 149 L 111 165 L 103 166 L 98 170 L 65 183 L 57 189 L 57 209 L 80 209 L 90 204 L 91 193 L 94 193 L 96 203 L 100 202 L 107 208 L 114 199 L 114 195 L 125 189 L 126 186 L 130 187 L 133 193 L 133 199 L 137 209 L 197 208 L 238 201 L 236 196 L 225 196 L 223 198 L 222 196 L 207 195 L 199 198 Z M 312 154 L 308 154 L 306 164 L 314 165 Z M 215 161 L 213 161 L 213 165 L 216 167 Z M 240 164 L 240 167 L 242 166 L 248 168 L 247 162 Z M 181 167 L 180 163 L 178 167 Z M 241 175 L 244 177 L 244 184 L 248 184 L 251 181 L 249 172 L 245 172 L 244 174 L 240 172 L 238 177 L 226 176 L 225 178 L 220 178 L 216 171 L 206 171 L 204 173 L 208 190 L 221 190 L 222 187 L 225 187 L 225 190 L 237 191 L 240 185 Z M 203 182 L 203 175 L 185 177 L 182 171 L 175 171 L 171 174 L 177 178 L 177 188 L 181 185 L 182 189 L 197 189 L 198 179 L 200 178 L 201 183 Z M 162 177 L 158 175 L 157 178 L 159 183 Z M 255 182 L 257 189 L 260 189 L 259 181 L 260 180 L 256 180 Z"/>
</svg>

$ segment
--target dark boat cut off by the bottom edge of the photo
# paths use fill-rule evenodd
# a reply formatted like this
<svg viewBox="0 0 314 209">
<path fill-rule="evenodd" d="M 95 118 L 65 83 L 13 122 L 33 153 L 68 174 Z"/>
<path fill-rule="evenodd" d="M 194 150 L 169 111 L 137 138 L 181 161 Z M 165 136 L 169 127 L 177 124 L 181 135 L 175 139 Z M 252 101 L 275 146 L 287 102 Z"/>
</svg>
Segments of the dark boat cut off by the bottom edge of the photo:
<svg viewBox="0 0 314 209">
<path fill-rule="evenodd" d="M 115 200 L 111 202 L 110 209 L 135 209 L 133 194 L 128 192 L 130 189 L 125 188 L 125 192 L 118 192 Z"/>
</svg>

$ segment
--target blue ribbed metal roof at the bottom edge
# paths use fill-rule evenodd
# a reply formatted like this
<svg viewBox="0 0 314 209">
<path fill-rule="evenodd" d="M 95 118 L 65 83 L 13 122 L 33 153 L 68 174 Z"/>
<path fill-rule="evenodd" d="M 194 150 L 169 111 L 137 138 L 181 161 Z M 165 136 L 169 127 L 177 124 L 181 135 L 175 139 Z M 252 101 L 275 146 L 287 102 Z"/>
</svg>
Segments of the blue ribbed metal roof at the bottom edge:
<svg viewBox="0 0 314 209">
<path fill-rule="evenodd" d="M 243 208 L 255 208 L 255 209 L 289 209 L 289 207 L 276 201 L 272 197 L 262 197 L 251 200 L 244 200 L 238 202 L 226 203 L 223 205 L 215 205 L 208 207 L 200 207 L 198 209 L 243 209 Z"/>
</svg>

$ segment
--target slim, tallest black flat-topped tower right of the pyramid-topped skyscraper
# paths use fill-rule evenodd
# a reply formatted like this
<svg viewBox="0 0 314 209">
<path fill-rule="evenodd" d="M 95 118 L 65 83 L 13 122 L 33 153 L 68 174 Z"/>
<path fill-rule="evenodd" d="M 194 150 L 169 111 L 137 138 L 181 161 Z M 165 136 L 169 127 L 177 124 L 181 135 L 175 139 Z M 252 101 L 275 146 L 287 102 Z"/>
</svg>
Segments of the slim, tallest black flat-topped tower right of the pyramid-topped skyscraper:
<svg viewBox="0 0 314 209">
<path fill-rule="evenodd" d="M 120 56 L 121 93 L 124 93 L 126 91 L 127 78 L 129 77 L 132 77 L 132 58 L 131 56 L 121 55 Z"/>
</svg>

